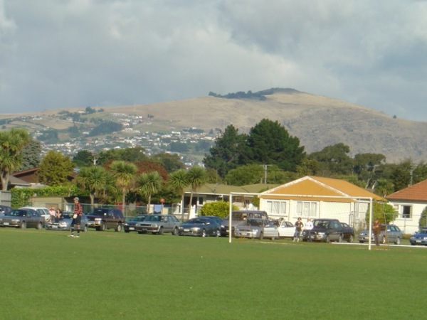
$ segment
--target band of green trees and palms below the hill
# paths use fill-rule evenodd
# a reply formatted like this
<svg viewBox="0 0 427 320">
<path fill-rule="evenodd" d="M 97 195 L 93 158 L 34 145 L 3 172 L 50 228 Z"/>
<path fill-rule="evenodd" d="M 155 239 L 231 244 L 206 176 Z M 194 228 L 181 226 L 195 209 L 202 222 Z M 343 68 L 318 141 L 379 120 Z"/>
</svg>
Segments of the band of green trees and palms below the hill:
<svg viewBox="0 0 427 320">
<path fill-rule="evenodd" d="M 427 178 L 423 161 L 415 164 L 405 159 L 387 164 L 383 154 L 349 154 L 349 146 L 342 143 L 307 154 L 297 137 L 269 119 L 262 119 L 248 134 L 229 125 L 204 156 L 204 168 L 189 170 L 177 154 L 147 156 L 142 147 L 99 154 L 80 150 L 73 159 L 48 151 L 41 158 L 40 142 L 24 129 L 11 129 L 0 132 L 0 178 L 3 190 L 7 190 L 12 172 L 38 167 L 38 182 L 77 186 L 80 195 L 88 196 L 92 203 L 95 197 L 104 203 L 149 204 L 160 198 L 174 203 L 190 186 L 189 205 L 194 191 L 204 183 L 282 184 L 313 175 L 341 178 L 386 196 Z"/>
</svg>

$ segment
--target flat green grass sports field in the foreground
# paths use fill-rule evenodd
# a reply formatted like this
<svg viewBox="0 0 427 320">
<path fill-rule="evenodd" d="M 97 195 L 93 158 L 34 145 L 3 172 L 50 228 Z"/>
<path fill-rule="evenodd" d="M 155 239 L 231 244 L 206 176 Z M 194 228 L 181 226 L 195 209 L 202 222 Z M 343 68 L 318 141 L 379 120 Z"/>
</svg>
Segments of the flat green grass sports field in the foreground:
<svg viewBox="0 0 427 320">
<path fill-rule="evenodd" d="M 422 319 L 423 247 L 0 228 L 0 319 Z M 416 294 L 416 295 L 415 295 Z"/>
</svg>

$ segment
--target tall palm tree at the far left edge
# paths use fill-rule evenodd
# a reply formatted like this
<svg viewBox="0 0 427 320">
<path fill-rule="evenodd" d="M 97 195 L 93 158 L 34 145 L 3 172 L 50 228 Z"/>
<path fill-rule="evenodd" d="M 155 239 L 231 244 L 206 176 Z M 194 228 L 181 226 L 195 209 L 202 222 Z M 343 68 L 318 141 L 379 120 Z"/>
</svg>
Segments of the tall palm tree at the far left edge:
<svg viewBox="0 0 427 320">
<path fill-rule="evenodd" d="M 7 191 L 11 171 L 21 166 L 21 151 L 29 143 L 30 136 L 25 129 L 13 128 L 0 132 L 0 180 L 3 191 Z"/>
</svg>

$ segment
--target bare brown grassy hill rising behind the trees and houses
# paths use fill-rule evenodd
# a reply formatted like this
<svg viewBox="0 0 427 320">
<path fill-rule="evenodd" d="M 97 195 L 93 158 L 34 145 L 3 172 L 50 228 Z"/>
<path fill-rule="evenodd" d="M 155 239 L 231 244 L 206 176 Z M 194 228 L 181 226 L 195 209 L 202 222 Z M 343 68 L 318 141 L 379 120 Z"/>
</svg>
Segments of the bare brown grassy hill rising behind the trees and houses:
<svg viewBox="0 0 427 320">
<path fill-rule="evenodd" d="M 290 89 L 266 90 L 263 99 L 243 97 L 196 97 L 191 100 L 159 102 L 151 105 L 95 107 L 91 117 L 118 119 L 120 114 L 133 114 L 144 121 L 135 124 L 139 132 L 171 132 L 186 127 L 209 131 L 224 129 L 229 124 L 248 132 L 267 118 L 278 120 L 288 132 L 300 139 L 307 153 L 320 151 L 325 146 L 342 142 L 352 155 L 358 153 L 384 154 L 387 162 L 411 158 L 427 159 L 426 122 L 394 119 L 376 110 L 354 105 L 330 97 L 311 95 Z M 68 108 L 67 112 L 82 112 L 85 108 Z M 56 114 L 64 110 L 45 110 L 19 114 L 36 117 L 31 125 L 53 129 L 71 127 L 73 122 L 58 121 Z M 0 118 L 15 118 L 17 114 L 1 114 Z M 37 120 L 38 119 L 38 120 Z M 25 122 L 11 122 L 22 126 Z"/>
</svg>

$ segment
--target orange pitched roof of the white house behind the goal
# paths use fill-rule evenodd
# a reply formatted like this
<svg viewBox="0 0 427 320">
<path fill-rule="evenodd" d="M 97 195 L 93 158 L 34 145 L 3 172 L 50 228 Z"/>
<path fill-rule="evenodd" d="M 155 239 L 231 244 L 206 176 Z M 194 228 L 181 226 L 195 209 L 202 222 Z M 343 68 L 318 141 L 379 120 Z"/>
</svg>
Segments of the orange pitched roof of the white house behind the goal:
<svg viewBox="0 0 427 320">
<path fill-rule="evenodd" d="M 337 196 L 374 198 L 378 201 L 384 201 L 384 198 L 381 198 L 380 196 L 377 196 L 376 194 L 371 193 L 364 188 L 355 186 L 353 183 L 349 183 L 348 181 L 335 178 L 324 178 L 320 176 L 305 176 L 303 178 L 299 178 L 290 183 L 285 183 L 282 186 L 265 191 L 263 196 L 270 196 L 275 194 L 295 195 L 295 198 L 301 198 L 299 196 L 310 196 L 310 198 L 316 198 L 316 196 L 318 198 L 324 196 Z"/>
</svg>

